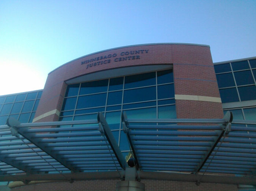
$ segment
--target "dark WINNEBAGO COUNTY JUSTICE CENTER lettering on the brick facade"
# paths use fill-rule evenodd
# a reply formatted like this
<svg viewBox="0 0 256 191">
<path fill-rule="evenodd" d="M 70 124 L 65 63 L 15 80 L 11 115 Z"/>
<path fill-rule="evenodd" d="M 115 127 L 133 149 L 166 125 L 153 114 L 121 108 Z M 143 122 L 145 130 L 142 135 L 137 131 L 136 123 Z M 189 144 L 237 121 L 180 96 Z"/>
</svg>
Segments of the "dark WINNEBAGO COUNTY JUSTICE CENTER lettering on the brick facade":
<svg viewBox="0 0 256 191">
<path fill-rule="evenodd" d="M 112 60 L 114 62 L 120 62 L 124 60 L 135 60 L 135 59 L 141 59 L 141 54 L 148 53 L 148 50 L 135 50 L 135 51 L 126 51 L 121 52 L 118 54 L 108 54 L 108 55 L 102 55 L 90 60 L 85 60 L 81 62 L 81 65 L 87 64 L 86 69 L 89 67 L 102 65 L 102 64 L 108 64 L 111 63 Z M 117 57 L 118 56 L 118 57 Z"/>
</svg>

